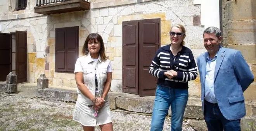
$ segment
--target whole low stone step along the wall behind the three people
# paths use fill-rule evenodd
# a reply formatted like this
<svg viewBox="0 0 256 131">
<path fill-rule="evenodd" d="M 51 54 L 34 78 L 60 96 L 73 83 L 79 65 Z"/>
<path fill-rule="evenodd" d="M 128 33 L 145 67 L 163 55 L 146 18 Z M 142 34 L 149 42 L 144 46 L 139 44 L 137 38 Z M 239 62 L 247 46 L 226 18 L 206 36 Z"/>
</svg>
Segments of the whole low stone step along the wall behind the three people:
<svg viewBox="0 0 256 131">
<path fill-rule="evenodd" d="M 76 102 L 78 93 L 76 88 L 49 87 L 37 89 L 36 96 L 64 102 Z M 111 109 L 124 109 L 137 113 L 152 114 L 155 96 L 140 97 L 134 94 L 109 92 Z M 171 108 L 169 109 L 171 116 Z M 189 97 L 184 118 L 203 119 L 201 101 L 199 98 Z"/>
</svg>

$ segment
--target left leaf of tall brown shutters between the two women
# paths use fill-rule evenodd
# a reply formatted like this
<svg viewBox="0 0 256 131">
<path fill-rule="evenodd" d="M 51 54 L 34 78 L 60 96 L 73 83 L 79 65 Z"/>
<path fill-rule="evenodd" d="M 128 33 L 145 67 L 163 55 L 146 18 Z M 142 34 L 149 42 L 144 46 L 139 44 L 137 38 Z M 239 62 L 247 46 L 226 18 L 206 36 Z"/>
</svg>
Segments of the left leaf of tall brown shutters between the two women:
<svg viewBox="0 0 256 131">
<path fill-rule="evenodd" d="M 138 94 L 138 21 L 123 22 L 123 92 Z"/>
</svg>

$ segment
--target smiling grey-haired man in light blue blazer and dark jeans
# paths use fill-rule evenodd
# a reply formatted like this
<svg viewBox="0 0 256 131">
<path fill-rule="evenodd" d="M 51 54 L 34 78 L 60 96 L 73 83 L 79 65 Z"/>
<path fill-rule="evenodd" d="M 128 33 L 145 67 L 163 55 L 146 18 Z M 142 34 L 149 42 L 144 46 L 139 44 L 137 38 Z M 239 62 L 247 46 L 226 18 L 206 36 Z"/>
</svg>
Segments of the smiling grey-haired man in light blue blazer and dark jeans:
<svg viewBox="0 0 256 131">
<path fill-rule="evenodd" d="M 201 81 L 201 100 L 208 131 L 240 131 L 246 115 L 243 92 L 254 76 L 241 52 L 221 47 L 221 31 L 204 30 L 208 52 L 197 58 Z"/>
</svg>

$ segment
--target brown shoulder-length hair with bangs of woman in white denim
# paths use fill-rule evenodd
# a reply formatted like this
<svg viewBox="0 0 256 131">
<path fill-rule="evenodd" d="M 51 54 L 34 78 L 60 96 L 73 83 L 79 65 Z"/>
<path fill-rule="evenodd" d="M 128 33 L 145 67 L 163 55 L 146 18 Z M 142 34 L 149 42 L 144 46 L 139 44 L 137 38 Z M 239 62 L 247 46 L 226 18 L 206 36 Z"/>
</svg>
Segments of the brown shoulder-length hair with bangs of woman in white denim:
<svg viewBox="0 0 256 131">
<path fill-rule="evenodd" d="M 90 41 L 95 42 L 95 40 L 100 42 L 100 51 L 99 51 L 100 59 L 102 61 L 106 61 L 107 56 L 106 56 L 106 52 L 105 52 L 104 42 L 103 42 L 102 37 L 97 33 L 91 33 L 87 36 L 87 38 L 85 40 L 85 44 L 83 44 L 82 54 L 83 55 L 88 55 L 88 53 L 89 53 L 88 42 L 90 42 Z"/>
</svg>

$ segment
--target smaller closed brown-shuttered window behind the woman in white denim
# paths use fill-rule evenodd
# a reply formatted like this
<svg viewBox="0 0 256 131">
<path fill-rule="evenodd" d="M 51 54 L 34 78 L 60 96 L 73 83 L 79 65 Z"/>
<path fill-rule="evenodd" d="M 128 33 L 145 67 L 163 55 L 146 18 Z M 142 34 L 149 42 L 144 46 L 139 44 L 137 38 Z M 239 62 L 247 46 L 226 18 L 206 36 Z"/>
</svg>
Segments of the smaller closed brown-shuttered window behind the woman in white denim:
<svg viewBox="0 0 256 131">
<path fill-rule="evenodd" d="M 79 27 L 55 29 L 55 72 L 74 72 L 78 58 Z"/>
</svg>

